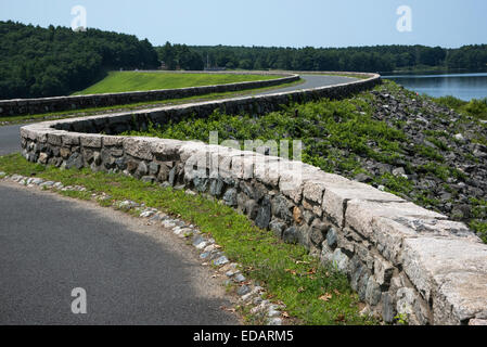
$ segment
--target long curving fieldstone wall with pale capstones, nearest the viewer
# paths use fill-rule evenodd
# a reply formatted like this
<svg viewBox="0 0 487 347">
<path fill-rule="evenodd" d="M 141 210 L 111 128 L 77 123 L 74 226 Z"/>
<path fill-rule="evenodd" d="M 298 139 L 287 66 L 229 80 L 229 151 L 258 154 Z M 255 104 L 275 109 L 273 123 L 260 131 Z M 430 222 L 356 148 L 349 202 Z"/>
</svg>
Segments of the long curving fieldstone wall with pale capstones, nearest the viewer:
<svg viewBox="0 0 487 347">
<path fill-rule="evenodd" d="M 193 141 L 110 136 L 216 108 L 265 113 L 291 101 L 345 97 L 377 81 L 372 76 L 308 91 L 28 125 L 21 129 L 23 155 L 219 198 L 346 273 L 386 322 L 403 314 L 413 324 L 486 323 L 487 245 L 463 223 L 300 162 Z"/>
</svg>

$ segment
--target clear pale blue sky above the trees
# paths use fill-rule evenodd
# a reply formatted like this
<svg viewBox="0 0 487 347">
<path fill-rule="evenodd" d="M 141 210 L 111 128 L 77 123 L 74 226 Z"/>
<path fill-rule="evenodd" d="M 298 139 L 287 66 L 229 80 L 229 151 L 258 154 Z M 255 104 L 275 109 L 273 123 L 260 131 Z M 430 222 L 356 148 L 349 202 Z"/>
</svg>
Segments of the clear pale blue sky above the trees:
<svg viewBox="0 0 487 347">
<path fill-rule="evenodd" d="M 87 10 L 88 27 L 154 46 L 487 43 L 487 0 L 0 0 L 0 20 L 71 26 L 77 4 Z M 411 31 L 396 28 L 400 5 L 412 10 Z"/>
</svg>

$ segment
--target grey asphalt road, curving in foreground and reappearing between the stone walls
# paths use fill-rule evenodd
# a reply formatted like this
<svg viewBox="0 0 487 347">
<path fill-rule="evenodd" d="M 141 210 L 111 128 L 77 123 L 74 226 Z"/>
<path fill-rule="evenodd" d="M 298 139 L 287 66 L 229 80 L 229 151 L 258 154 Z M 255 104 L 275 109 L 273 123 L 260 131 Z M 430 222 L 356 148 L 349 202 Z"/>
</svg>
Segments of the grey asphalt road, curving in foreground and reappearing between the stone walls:
<svg viewBox="0 0 487 347">
<path fill-rule="evenodd" d="M 303 77 L 265 93 L 349 80 Z M 0 127 L 0 155 L 20 151 L 20 128 Z M 0 183 L 0 324 L 239 323 L 189 249 L 121 213 Z M 71 310 L 75 287 L 87 292 L 87 314 Z"/>
</svg>

